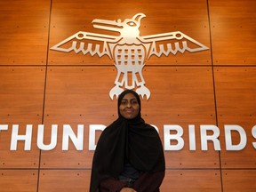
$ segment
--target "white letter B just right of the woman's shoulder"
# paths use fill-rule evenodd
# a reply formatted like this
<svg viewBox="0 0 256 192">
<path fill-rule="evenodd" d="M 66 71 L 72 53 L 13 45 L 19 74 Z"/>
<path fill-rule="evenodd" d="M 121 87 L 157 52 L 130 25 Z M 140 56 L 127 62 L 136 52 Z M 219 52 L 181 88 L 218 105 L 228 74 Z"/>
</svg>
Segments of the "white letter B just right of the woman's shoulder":
<svg viewBox="0 0 256 192">
<path fill-rule="evenodd" d="M 170 131 L 176 131 L 176 134 L 171 134 Z M 180 125 L 164 124 L 164 150 L 180 150 L 184 147 L 182 139 L 183 129 Z M 177 140 L 176 145 L 172 145 L 172 140 Z"/>
</svg>

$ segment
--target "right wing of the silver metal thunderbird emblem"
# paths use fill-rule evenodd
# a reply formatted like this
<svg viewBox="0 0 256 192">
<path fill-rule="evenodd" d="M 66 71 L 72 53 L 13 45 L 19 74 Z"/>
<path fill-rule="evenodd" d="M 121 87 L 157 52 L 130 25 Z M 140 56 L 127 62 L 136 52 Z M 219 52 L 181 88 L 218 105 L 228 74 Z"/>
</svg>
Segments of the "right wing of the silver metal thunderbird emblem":
<svg viewBox="0 0 256 192">
<path fill-rule="evenodd" d="M 143 43 L 150 43 L 148 51 L 148 58 L 151 55 L 160 57 L 162 54 L 168 56 L 170 53 L 177 52 L 200 52 L 209 49 L 200 44 L 195 39 L 181 33 L 180 31 L 156 34 L 150 36 L 140 36 L 140 41 Z"/>
</svg>

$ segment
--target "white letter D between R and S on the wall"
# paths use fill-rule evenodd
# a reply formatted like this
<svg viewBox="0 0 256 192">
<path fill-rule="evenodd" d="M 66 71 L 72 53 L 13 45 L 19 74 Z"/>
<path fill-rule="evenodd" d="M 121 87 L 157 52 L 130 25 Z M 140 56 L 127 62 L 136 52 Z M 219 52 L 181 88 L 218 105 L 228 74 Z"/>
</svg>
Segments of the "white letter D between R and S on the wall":
<svg viewBox="0 0 256 192">
<path fill-rule="evenodd" d="M 233 125 L 224 125 L 225 129 L 225 140 L 227 150 L 242 150 L 246 146 L 247 138 L 244 129 L 236 124 Z M 237 145 L 232 144 L 231 131 L 236 131 L 240 135 L 240 143 Z"/>
</svg>

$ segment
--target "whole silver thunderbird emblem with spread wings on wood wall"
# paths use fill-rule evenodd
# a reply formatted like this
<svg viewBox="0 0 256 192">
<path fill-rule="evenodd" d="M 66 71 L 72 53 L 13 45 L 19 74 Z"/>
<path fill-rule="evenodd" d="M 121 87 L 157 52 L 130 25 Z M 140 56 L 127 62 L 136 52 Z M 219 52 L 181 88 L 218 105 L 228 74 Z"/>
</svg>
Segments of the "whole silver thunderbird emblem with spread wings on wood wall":
<svg viewBox="0 0 256 192">
<path fill-rule="evenodd" d="M 93 28 L 116 31 L 119 36 L 79 31 L 51 49 L 59 52 L 83 52 L 84 55 L 90 53 L 92 56 L 97 54 L 99 57 L 108 55 L 117 69 L 115 86 L 109 92 L 110 98 L 117 98 L 124 89 L 133 89 L 148 100 L 150 91 L 145 85 L 142 68 L 150 56 L 168 56 L 170 53 L 175 55 L 185 51 L 200 52 L 208 48 L 180 31 L 140 36 L 140 20 L 144 17 L 146 16 L 143 13 L 137 13 L 132 19 L 124 21 L 92 20 Z M 66 48 L 71 42 L 72 45 Z M 192 45 L 189 47 L 188 43 Z"/>
</svg>

